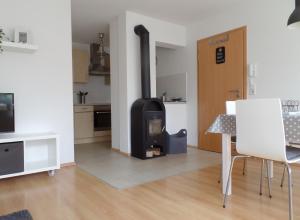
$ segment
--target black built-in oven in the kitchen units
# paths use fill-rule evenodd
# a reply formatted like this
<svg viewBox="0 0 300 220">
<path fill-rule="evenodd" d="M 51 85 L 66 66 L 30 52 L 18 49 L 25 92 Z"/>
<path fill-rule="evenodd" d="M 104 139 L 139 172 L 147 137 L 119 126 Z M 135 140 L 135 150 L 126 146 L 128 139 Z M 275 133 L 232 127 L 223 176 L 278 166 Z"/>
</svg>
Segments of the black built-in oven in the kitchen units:
<svg viewBox="0 0 300 220">
<path fill-rule="evenodd" d="M 94 106 L 94 130 L 95 131 L 111 130 L 111 106 L 110 105 Z"/>
</svg>

